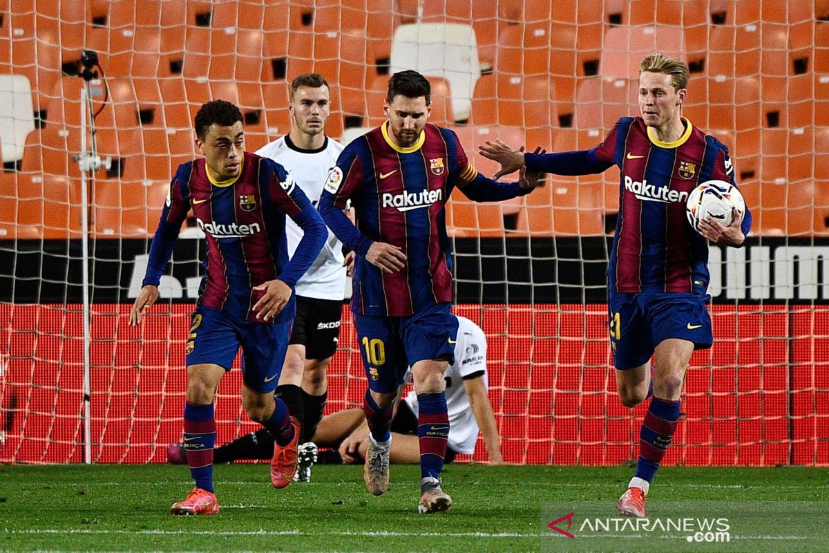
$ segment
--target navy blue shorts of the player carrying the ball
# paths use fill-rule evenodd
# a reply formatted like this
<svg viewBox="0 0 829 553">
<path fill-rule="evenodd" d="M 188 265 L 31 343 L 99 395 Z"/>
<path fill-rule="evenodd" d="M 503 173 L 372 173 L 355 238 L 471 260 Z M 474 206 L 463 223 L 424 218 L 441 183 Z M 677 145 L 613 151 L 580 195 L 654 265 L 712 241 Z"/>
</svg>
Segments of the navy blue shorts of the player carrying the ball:
<svg viewBox="0 0 829 553">
<path fill-rule="evenodd" d="M 642 366 L 660 342 L 679 338 L 694 349 L 714 343 L 706 308 L 710 296 L 696 293 L 610 293 L 608 301 L 613 366 Z"/>
</svg>

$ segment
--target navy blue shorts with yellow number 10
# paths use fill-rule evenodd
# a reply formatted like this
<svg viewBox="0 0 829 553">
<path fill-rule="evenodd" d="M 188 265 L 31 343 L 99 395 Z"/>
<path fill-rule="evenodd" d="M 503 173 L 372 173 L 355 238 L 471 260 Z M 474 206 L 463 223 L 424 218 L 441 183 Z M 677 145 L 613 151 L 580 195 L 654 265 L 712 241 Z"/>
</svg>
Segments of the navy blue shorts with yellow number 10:
<svg viewBox="0 0 829 553">
<path fill-rule="evenodd" d="M 355 315 L 354 326 L 368 386 L 376 392 L 396 391 L 406 369 L 417 361 L 455 362 L 458 319 L 448 303 L 408 317 Z"/>
</svg>

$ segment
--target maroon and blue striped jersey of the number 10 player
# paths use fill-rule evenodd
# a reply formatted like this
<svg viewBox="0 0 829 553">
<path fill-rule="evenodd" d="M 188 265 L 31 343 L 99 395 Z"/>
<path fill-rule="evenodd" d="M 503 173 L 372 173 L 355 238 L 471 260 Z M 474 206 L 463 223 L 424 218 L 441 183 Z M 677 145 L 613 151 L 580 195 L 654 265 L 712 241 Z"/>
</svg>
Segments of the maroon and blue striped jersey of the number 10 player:
<svg viewBox="0 0 829 553">
<path fill-rule="evenodd" d="M 444 205 L 454 187 L 473 201 L 500 201 L 530 192 L 494 182 L 469 162 L 458 136 L 427 124 L 417 143 L 400 148 L 382 124 L 342 151 L 319 201 L 327 226 L 358 254 L 351 308 L 376 317 L 405 317 L 452 301 L 452 251 Z M 356 227 L 342 212 L 347 201 Z M 392 274 L 366 260 L 375 241 L 407 256 Z"/>
</svg>

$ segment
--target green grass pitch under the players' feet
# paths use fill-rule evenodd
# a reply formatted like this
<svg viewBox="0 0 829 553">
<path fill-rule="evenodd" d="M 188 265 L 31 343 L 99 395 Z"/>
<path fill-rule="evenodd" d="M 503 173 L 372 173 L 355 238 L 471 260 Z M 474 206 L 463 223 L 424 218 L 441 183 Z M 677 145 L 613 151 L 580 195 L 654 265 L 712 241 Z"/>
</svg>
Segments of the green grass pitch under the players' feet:
<svg viewBox="0 0 829 553">
<path fill-rule="evenodd" d="M 318 465 L 312 483 L 275 490 L 267 465 L 222 465 L 221 513 L 172 517 L 185 467 L 0 466 L 0 551 L 829 551 L 824 468 L 662 468 L 649 517 L 728 517 L 730 542 L 716 544 L 546 527 L 570 506 L 615 517 L 631 468 L 450 465 L 454 505 L 435 515 L 416 511 L 418 470 L 392 466 L 373 497 L 361 467 Z"/>
</svg>

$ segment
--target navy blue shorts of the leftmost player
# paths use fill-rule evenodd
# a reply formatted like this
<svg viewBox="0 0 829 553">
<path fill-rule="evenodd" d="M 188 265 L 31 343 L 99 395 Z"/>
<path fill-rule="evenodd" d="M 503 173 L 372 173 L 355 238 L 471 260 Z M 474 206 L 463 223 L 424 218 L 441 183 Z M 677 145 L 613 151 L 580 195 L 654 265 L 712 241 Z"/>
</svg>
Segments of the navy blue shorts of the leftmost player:
<svg viewBox="0 0 829 553">
<path fill-rule="evenodd" d="M 196 308 L 187 337 L 187 365 L 213 363 L 230 371 L 242 348 L 242 380 L 260 394 L 276 390 L 288 349 L 291 319 L 256 323 L 211 308 Z"/>
</svg>

